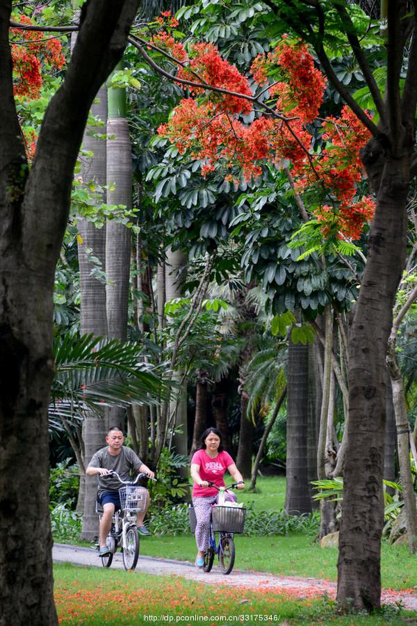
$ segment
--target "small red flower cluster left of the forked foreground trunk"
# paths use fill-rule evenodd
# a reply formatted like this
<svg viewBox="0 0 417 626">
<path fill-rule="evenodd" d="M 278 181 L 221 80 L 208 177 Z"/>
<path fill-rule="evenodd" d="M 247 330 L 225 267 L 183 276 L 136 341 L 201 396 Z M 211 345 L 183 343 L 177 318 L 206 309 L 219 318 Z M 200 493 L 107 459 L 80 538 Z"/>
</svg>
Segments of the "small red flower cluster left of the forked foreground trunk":
<svg viewBox="0 0 417 626">
<path fill-rule="evenodd" d="M 15 22 L 33 24 L 26 15 L 15 17 Z M 41 62 L 56 70 L 60 70 L 65 63 L 60 42 L 45 39 L 43 33 L 38 31 L 10 29 L 10 35 L 15 95 L 38 98 L 42 87 Z M 24 44 L 13 43 L 14 38 L 23 40 Z"/>
</svg>

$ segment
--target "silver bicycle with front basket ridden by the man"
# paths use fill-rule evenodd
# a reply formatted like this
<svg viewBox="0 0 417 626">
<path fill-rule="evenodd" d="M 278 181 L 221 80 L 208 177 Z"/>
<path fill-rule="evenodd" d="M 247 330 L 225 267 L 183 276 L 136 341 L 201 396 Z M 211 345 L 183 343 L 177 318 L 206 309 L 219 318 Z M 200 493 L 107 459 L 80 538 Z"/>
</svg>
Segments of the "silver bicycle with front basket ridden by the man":
<svg viewBox="0 0 417 626">
<path fill-rule="evenodd" d="M 117 472 L 109 472 L 104 476 L 117 476 L 120 483 L 124 485 L 119 489 L 120 505 L 122 510 L 117 509 L 111 520 L 111 529 L 106 539 L 106 547 L 110 554 L 101 556 L 101 564 L 104 568 L 109 568 L 113 561 L 113 555 L 117 551 L 117 547 L 122 548 L 123 566 L 125 570 L 134 570 L 139 558 L 139 534 L 136 526 L 136 519 L 140 511 L 145 511 L 147 490 L 145 487 L 136 485 L 138 480 L 143 476 L 149 478 L 147 474 L 138 474 L 134 481 L 122 481 Z M 155 479 L 152 479 L 155 480 Z M 101 521 L 101 513 L 103 509 L 99 503 L 96 503 L 96 511 L 99 513 Z M 99 550 L 100 546 L 97 545 Z"/>
</svg>

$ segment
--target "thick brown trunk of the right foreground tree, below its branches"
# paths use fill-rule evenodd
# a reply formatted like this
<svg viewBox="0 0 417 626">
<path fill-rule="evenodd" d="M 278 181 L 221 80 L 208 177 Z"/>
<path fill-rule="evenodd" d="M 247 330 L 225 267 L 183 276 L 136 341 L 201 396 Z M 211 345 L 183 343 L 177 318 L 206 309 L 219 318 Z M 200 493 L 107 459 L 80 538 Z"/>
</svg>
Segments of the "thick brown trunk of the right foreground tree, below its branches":
<svg viewBox="0 0 417 626">
<path fill-rule="evenodd" d="M 373 163 L 369 160 L 371 179 L 375 173 Z M 408 186 L 409 158 L 386 157 L 368 238 L 368 260 L 350 330 L 338 601 L 343 605 L 352 603 L 354 609 L 369 610 L 380 604 L 385 356 L 395 293 L 404 268 Z"/>
</svg>

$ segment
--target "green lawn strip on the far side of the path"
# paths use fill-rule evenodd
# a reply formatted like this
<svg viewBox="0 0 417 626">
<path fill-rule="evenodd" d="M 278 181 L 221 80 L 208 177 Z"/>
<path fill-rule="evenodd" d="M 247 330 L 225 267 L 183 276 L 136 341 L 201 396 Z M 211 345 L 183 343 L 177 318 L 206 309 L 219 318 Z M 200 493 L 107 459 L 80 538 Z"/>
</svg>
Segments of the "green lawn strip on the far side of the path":
<svg viewBox="0 0 417 626">
<path fill-rule="evenodd" d="M 236 564 L 242 570 L 270 572 L 281 576 L 300 576 L 336 580 L 336 548 L 321 548 L 304 534 L 269 537 L 235 536 Z M 165 559 L 194 561 L 194 536 L 147 537 L 140 541 L 140 554 Z M 416 556 L 406 546 L 382 545 L 382 586 L 417 589 Z"/>
</svg>

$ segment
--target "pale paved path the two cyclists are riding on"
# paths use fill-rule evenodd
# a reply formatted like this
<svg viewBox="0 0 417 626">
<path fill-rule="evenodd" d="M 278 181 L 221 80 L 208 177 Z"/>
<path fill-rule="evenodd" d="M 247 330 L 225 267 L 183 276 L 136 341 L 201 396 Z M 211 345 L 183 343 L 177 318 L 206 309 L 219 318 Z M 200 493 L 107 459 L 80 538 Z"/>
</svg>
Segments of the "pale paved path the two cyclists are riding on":
<svg viewBox="0 0 417 626">
<path fill-rule="evenodd" d="M 70 562 L 79 565 L 94 565 L 101 567 L 101 560 L 95 549 L 76 547 L 56 543 L 52 552 L 54 561 Z M 113 558 L 112 568 L 123 568 L 122 554 L 117 552 Z M 283 577 L 265 572 L 251 572 L 233 570 L 231 574 L 224 576 L 220 568 L 213 566 L 209 574 L 195 568 L 194 563 L 189 561 L 172 561 L 171 559 L 156 559 L 152 556 L 139 556 L 136 572 L 151 574 L 154 576 L 181 576 L 204 584 L 227 584 L 227 586 L 241 587 L 246 589 L 271 589 L 291 593 L 297 597 L 303 595 L 327 594 L 336 597 L 336 583 L 328 580 L 314 578 Z M 384 590 L 381 597 L 383 604 L 395 604 L 402 602 L 404 609 L 417 611 L 417 594 L 407 591 Z"/>
</svg>

